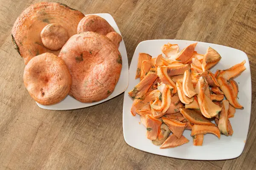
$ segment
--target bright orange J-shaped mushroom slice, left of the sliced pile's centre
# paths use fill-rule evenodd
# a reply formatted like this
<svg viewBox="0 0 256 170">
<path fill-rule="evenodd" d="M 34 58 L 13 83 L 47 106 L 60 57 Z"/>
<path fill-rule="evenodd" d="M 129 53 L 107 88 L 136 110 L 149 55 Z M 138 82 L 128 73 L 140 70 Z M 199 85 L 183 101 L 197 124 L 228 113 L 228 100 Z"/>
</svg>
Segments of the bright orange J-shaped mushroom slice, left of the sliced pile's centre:
<svg viewBox="0 0 256 170">
<path fill-rule="evenodd" d="M 165 85 L 162 93 L 161 106 L 151 105 L 151 108 L 154 109 L 154 111 L 161 111 L 163 115 L 166 113 L 166 111 L 171 105 L 171 90 L 172 90 L 172 86 Z M 162 114 L 159 117 L 163 116 Z"/>
</svg>

